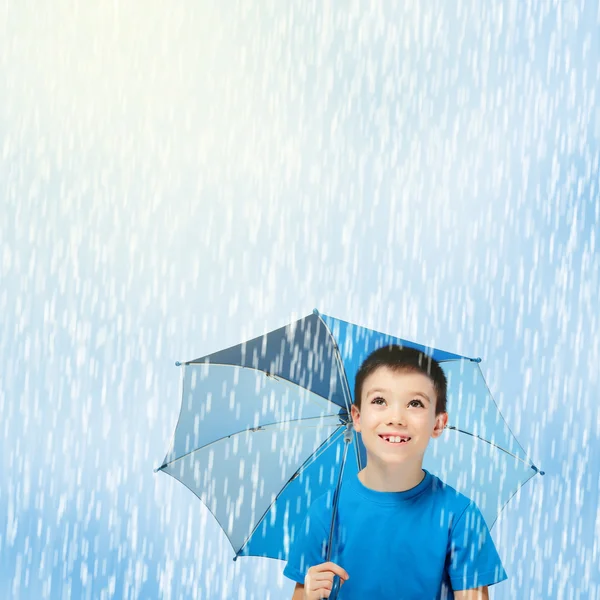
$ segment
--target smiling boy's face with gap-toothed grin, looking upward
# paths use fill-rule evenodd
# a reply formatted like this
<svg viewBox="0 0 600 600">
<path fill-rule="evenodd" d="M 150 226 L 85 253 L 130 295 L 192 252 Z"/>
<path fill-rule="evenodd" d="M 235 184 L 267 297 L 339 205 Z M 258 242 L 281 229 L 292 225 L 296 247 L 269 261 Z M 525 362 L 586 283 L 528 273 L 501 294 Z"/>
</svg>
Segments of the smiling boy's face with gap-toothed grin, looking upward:
<svg viewBox="0 0 600 600">
<path fill-rule="evenodd" d="M 439 437 L 447 413 L 436 416 L 433 382 L 422 373 L 380 367 L 364 381 L 361 408 L 352 406 L 369 461 L 383 465 L 422 464 L 427 444 Z M 402 441 L 398 441 L 401 438 Z"/>
</svg>

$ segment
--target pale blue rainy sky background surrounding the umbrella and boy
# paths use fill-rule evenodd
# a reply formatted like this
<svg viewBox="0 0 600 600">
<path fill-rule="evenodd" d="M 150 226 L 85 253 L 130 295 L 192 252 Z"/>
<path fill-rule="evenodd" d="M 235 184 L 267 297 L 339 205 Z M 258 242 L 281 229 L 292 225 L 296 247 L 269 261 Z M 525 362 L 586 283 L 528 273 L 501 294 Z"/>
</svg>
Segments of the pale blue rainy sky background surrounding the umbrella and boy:
<svg viewBox="0 0 600 600">
<path fill-rule="evenodd" d="M 1 597 L 286 597 L 153 468 L 176 360 L 317 307 L 483 358 L 493 598 L 600 599 L 597 7 L 379 6 L 2 9 Z"/>
</svg>

